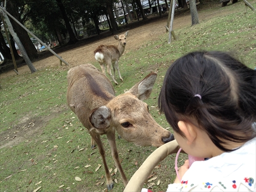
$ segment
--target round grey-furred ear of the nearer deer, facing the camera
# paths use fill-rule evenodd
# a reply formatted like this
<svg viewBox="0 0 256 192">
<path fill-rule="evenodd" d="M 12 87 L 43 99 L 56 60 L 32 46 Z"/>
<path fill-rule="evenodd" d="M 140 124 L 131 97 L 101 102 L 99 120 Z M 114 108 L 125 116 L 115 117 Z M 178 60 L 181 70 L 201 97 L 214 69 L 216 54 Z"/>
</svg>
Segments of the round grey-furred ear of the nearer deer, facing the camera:
<svg viewBox="0 0 256 192">
<path fill-rule="evenodd" d="M 91 112 L 89 119 L 96 129 L 106 129 L 110 126 L 111 111 L 106 106 L 100 106 Z"/>
</svg>

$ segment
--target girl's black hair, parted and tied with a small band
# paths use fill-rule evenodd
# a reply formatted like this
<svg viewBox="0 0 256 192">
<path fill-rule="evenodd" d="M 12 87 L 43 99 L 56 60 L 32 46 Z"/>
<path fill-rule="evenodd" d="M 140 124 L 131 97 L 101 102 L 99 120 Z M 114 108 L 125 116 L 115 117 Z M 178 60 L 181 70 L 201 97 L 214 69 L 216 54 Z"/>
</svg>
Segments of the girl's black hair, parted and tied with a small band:
<svg viewBox="0 0 256 192">
<path fill-rule="evenodd" d="M 184 136 L 180 120 L 196 120 L 220 150 L 232 151 L 223 146 L 224 140 L 256 137 L 256 70 L 229 53 L 188 53 L 168 68 L 158 106 L 178 134 Z"/>
</svg>

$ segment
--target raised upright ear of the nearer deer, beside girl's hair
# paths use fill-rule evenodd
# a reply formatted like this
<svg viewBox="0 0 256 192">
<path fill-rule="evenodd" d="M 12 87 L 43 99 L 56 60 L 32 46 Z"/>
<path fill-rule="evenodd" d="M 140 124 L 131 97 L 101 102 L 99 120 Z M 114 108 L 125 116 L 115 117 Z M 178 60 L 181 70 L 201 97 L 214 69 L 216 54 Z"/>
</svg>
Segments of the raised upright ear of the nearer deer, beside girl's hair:
<svg viewBox="0 0 256 192">
<path fill-rule="evenodd" d="M 152 72 L 151 74 L 148 74 L 140 82 L 136 83 L 135 86 L 133 86 L 127 92 L 132 93 L 133 95 L 138 97 L 139 100 L 143 101 L 150 97 L 156 78 L 157 73 Z"/>
</svg>

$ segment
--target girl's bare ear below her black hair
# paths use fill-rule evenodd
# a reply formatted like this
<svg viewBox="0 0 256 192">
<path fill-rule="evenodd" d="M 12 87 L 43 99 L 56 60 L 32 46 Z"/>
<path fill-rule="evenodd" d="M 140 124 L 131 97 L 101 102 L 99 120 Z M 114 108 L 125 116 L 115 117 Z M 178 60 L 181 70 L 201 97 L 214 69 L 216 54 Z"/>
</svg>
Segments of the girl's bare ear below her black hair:
<svg viewBox="0 0 256 192">
<path fill-rule="evenodd" d="M 184 133 L 187 139 L 187 144 L 191 145 L 197 137 L 197 132 L 195 130 L 195 127 L 193 127 L 191 123 L 184 122 L 184 121 L 179 121 L 178 126 L 180 130 Z"/>
</svg>

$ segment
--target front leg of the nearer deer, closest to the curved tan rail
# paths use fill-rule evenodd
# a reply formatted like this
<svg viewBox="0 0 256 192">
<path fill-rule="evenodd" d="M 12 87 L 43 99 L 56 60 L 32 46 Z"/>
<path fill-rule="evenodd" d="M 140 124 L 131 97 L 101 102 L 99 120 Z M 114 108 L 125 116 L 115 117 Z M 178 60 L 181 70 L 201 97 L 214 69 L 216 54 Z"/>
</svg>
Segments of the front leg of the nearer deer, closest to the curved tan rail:
<svg viewBox="0 0 256 192">
<path fill-rule="evenodd" d="M 106 134 L 106 137 L 108 138 L 108 141 L 109 141 L 109 144 L 110 144 L 112 158 L 115 161 L 115 165 L 116 165 L 116 167 L 117 167 L 117 169 L 118 169 L 118 171 L 119 171 L 119 173 L 122 177 L 123 185 L 125 187 L 128 183 L 128 179 L 126 178 L 126 176 L 123 172 L 121 163 L 119 161 L 118 152 L 117 152 L 117 148 L 116 148 L 115 132 L 108 132 Z"/>
</svg>

